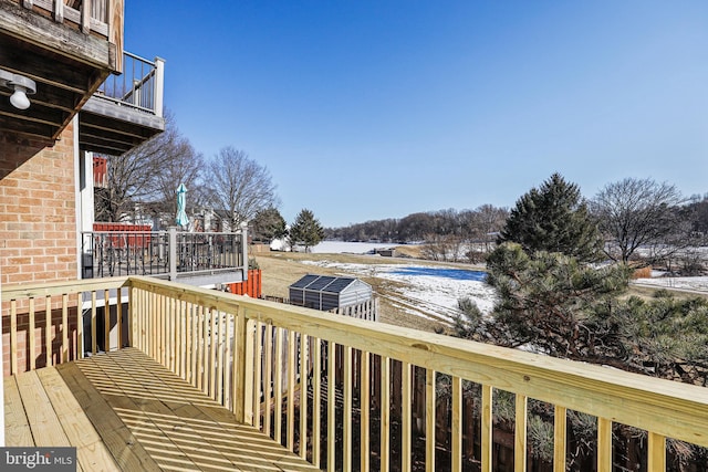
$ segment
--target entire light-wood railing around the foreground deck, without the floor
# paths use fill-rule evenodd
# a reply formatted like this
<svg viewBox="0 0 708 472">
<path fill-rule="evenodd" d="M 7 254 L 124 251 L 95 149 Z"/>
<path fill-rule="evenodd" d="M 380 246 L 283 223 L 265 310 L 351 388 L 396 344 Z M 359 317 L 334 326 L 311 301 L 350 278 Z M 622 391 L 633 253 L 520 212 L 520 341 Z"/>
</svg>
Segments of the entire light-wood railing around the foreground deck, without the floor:
<svg viewBox="0 0 708 472">
<path fill-rule="evenodd" d="M 571 411 L 595 418 L 593 470 L 620 470 L 613 463 L 628 454 L 626 442 L 613 440 L 616 428 L 644 431 L 643 470 L 677 470 L 667 464 L 669 438 L 708 447 L 702 387 L 152 277 L 3 286 L 2 301 L 12 373 L 137 347 L 327 470 L 460 471 L 476 462 L 482 471 L 525 471 L 532 400 L 553 412 L 554 471 L 580 470 L 568 463 Z M 469 382 L 479 387 L 473 402 L 466 401 Z M 504 395 L 514 397 L 511 466 L 494 445 L 494 398 Z M 449 424 L 436 422 L 441 405 Z M 476 448 L 465 448 L 471 436 Z"/>
</svg>

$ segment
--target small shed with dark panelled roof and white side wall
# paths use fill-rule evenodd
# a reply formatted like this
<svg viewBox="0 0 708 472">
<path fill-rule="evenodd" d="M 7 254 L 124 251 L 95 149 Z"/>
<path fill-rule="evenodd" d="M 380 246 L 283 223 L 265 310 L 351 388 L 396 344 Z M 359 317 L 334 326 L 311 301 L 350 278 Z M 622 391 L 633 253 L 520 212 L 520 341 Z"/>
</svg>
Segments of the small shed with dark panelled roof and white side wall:
<svg viewBox="0 0 708 472">
<path fill-rule="evenodd" d="M 372 300 L 369 284 L 355 277 L 308 274 L 290 285 L 290 303 L 329 312 Z"/>
</svg>

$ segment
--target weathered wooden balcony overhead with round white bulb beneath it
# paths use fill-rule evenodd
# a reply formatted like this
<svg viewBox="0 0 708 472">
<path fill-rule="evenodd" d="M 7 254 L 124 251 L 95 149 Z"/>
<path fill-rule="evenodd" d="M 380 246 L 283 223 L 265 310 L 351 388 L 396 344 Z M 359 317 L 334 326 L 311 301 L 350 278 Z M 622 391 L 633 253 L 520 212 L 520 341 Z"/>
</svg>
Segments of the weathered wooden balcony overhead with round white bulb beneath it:
<svg viewBox="0 0 708 472">
<path fill-rule="evenodd" d="M 0 130 L 52 144 L 123 71 L 123 0 L 0 0 L 0 69 L 37 90 L 19 109 L 0 87 Z"/>
</svg>

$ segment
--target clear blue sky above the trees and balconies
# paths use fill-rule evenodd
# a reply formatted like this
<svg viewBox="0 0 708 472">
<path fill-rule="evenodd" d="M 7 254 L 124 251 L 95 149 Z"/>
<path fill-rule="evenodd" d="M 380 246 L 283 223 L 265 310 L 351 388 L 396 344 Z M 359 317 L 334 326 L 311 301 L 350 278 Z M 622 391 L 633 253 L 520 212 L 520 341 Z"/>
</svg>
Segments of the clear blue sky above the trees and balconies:
<svg viewBox="0 0 708 472">
<path fill-rule="evenodd" d="M 201 6 L 201 8 L 199 8 Z M 197 150 L 266 166 L 289 221 L 512 207 L 561 172 L 708 192 L 708 2 L 128 0 Z"/>
</svg>

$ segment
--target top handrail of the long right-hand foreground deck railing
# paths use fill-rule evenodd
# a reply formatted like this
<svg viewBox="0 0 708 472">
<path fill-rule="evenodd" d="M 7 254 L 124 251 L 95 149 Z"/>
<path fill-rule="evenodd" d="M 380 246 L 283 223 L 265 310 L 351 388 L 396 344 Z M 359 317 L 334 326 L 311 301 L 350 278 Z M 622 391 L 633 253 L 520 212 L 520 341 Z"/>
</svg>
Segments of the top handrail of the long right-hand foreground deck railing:
<svg viewBox="0 0 708 472">
<path fill-rule="evenodd" d="M 230 313 L 241 310 L 247 319 L 708 447 L 708 389 L 702 387 L 146 277 L 132 277 L 131 284 Z"/>
</svg>

